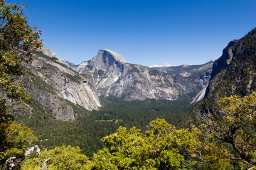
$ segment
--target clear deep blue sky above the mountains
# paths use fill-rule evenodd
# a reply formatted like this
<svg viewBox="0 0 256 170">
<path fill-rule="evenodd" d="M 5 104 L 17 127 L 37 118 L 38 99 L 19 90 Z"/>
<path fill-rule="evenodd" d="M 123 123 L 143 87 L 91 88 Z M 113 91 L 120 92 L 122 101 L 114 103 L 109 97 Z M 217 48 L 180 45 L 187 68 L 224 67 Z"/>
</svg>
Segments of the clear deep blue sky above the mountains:
<svg viewBox="0 0 256 170">
<path fill-rule="evenodd" d="M 45 47 L 80 64 L 98 50 L 133 64 L 203 64 L 256 27 L 255 0 L 7 0 L 28 6 Z"/>
</svg>

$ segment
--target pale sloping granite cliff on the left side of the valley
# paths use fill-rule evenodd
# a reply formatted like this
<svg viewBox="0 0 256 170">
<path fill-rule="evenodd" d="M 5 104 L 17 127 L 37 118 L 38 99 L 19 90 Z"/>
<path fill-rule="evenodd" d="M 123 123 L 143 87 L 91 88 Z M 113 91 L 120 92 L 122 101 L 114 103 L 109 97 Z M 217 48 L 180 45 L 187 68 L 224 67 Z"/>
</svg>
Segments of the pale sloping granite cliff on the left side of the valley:
<svg viewBox="0 0 256 170">
<path fill-rule="evenodd" d="M 43 48 L 31 63 L 25 63 L 27 74 L 23 86 L 33 94 L 33 101 L 55 115 L 58 120 L 74 120 L 73 107 L 68 101 L 87 110 L 97 110 L 100 101 L 90 74 L 80 75 L 61 64 L 55 53 Z"/>
</svg>

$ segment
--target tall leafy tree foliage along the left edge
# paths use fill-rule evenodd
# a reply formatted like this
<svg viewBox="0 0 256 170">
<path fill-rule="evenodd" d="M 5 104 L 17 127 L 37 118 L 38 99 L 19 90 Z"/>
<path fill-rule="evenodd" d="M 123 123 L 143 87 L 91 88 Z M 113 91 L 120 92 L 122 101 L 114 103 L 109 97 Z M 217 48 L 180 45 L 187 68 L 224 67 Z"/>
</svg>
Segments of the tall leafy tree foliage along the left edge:
<svg viewBox="0 0 256 170">
<path fill-rule="evenodd" d="M 41 30 L 28 25 L 23 17 L 23 5 L 0 1 L 0 168 L 6 159 L 22 159 L 23 145 L 33 139 L 31 130 L 17 125 L 8 114 L 7 100 L 28 100 L 25 89 L 17 81 L 24 72 L 21 63 L 31 60 L 31 54 L 42 46 Z M 32 137 L 32 138 L 31 138 Z"/>
</svg>

